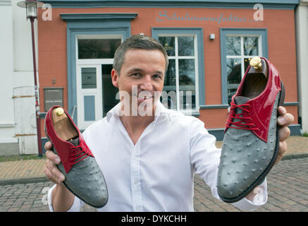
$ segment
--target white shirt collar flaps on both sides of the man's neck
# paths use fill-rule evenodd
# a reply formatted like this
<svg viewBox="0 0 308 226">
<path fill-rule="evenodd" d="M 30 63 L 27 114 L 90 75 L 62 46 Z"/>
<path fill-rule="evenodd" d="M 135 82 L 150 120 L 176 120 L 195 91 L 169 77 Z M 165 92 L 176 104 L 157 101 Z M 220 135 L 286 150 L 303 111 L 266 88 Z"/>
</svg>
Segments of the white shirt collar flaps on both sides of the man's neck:
<svg viewBox="0 0 308 226">
<path fill-rule="evenodd" d="M 110 119 L 112 117 L 118 119 L 119 115 L 120 115 L 120 109 L 121 109 L 121 102 L 119 102 L 116 106 L 114 106 L 107 114 L 106 114 L 106 119 L 109 122 Z M 154 117 L 154 123 L 156 123 L 156 121 L 159 118 L 163 118 L 163 117 L 168 117 L 169 121 L 171 121 L 171 117 L 169 115 L 169 110 L 166 109 L 166 107 L 164 107 L 164 105 L 158 101 L 156 103 L 156 108 L 155 108 L 155 117 Z"/>
</svg>

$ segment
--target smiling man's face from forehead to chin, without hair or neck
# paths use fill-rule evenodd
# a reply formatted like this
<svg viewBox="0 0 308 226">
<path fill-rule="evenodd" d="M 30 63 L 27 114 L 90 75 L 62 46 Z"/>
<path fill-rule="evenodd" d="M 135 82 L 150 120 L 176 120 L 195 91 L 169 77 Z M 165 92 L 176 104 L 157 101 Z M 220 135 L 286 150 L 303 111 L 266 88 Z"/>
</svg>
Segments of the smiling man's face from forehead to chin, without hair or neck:
<svg viewBox="0 0 308 226">
<path fill-rule="evenodd" d="M 164 54 L 159 50 L 130 49 L 125 53 L 121 74 L 111 71 L 112 83 L 120 92 L 128 93 L 130 106 L 132 102 L 138 107 L 150 104 L 154 111 L 154 92 L 161 93 L 164 88 L 165 66 Z"/>
</svg>

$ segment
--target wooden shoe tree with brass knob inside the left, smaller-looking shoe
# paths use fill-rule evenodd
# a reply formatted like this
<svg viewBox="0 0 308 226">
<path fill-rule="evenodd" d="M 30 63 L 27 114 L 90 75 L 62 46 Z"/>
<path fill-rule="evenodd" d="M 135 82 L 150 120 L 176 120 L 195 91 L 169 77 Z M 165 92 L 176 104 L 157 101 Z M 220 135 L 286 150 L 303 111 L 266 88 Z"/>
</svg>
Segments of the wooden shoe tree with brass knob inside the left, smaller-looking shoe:
<svg viewBox="0 0 308 226">
<path fill-rule="evenodd" d="M 52 111 L 52 121 L 54 122 L 54 130 L 61 140 L 70 141 L 78 137 L 78 132 L 61 107 Z"/>
</svg>

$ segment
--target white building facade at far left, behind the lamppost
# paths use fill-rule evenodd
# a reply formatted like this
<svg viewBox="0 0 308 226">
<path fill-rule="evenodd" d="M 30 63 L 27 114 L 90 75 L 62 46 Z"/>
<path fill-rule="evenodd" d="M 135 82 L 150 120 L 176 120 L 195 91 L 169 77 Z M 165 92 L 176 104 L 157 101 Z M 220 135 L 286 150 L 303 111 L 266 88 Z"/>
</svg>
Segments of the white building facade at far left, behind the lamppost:
<svg viewBox="0 0 308 226">
<path fill-rule="evenodd" d="M 17 3 L 0 1 L 0 155 L 38 153 L 31 26 Z"/>
</svg>

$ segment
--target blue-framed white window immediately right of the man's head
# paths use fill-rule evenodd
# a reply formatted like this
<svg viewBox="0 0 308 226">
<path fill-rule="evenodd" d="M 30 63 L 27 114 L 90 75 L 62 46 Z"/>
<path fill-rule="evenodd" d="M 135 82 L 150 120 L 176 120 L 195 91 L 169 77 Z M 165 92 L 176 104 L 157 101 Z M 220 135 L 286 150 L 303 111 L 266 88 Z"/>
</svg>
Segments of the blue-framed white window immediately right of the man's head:
<svg viewBox="0 0 308 226">
<path fill-rule="evenodd" d="M 169 58 L 161 102 L 168 109 L 196 114 L 205 102 L 202 28 L 152 28 L 152 37 Z"/>
</svg>

